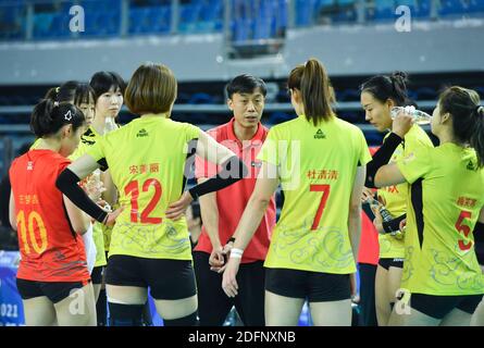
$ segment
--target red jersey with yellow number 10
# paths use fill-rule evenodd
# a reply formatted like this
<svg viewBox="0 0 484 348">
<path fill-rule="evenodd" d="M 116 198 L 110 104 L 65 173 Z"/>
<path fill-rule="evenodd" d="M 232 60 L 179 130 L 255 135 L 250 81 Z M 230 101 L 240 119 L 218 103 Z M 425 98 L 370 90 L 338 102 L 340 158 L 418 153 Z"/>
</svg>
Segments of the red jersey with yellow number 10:
<svg viewBox="0 0 484 348">
<path fill-rule="evenodd" d="M 86 282 L 83 238 L 71 227 L 59 174 L 71 163 L 51 150 L 30 150 L 15 159 L 10 181 L 15 200 L 21 262 L 17 277 L 37 282 Z"/>
</svg>

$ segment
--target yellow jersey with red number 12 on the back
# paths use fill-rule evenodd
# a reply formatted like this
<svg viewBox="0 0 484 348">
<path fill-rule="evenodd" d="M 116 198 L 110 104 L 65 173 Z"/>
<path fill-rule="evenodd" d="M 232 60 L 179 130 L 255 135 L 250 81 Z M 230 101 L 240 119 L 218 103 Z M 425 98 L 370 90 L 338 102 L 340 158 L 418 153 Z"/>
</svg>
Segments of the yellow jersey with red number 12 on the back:
<svg viewBox="0 0 484 348">
<path fill-rule="evenodd" d="M 125 209 L 116 219 L 109 256 L 191 260 L 185 217 L 165 217 L 185 185 L 187 144 L 200 129 L 162 116 L 132 121 L 111 132 L 88 153 L 106 159 Z"/>
</svg>

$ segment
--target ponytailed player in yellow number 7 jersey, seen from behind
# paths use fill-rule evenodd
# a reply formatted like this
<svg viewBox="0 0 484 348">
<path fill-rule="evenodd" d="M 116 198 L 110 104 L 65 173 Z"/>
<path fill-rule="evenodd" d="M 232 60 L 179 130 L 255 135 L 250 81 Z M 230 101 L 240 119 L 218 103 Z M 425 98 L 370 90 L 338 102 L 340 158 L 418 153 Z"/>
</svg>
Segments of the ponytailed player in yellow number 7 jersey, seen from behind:
<svg viewBox="0 0 484 348">
<path fill-rule="evenodd" d="M 360 198 L 371 156 L 362 132 L 333 112 L 330 78 L 318 60 L 295 67 L 288 88 L 298 117 L 272 127 L 258 156 L 262 167 L 222 286 L 237 296 L 244 249 L 281 183 L 284 207 L 264 263 L 265 324 L 297 325 L 308 299 L 314 325 L 350 325 Z"/>
</svg>

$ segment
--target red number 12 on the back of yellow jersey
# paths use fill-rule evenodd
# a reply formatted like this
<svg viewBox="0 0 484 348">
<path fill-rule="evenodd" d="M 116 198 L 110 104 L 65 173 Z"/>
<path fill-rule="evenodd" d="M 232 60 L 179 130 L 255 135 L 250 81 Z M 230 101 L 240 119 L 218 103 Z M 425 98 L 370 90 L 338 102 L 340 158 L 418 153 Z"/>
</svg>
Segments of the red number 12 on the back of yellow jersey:
<svg viewBox="0 0 484 348">
<path fill-rule="evenodd" d="M 156 178 L 149 178 L 142 184 L 142 191 L 146 192 L 150 189 L 150 187 L 154 188 L 154 196 L 151 198 L 148 206 L 146 206 L 145 210 L 140 215 L 141 224 L 161 224 L 161 217 L 152 217 L 149 214 L 153 211 L 154 207 L 157 207 L 158 202 L 161 198 L 161 183 Z M 139 186 L 138 181 L 133 181 L 126 185 L 124 188 L 124 192 L 126 196 L 132 196 L 132 214 L 131 220 L 133 223 L 138 222 L 138 197 L 139 197 Z"/>
</svg>

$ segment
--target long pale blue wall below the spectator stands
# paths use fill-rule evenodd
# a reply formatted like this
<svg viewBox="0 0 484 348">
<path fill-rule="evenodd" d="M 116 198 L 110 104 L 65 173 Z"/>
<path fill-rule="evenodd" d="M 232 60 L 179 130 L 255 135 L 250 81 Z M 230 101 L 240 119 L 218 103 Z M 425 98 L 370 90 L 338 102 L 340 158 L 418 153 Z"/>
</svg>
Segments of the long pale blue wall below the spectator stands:
<svg viewBox="0 0 484 348">
<path fill-rule="evenodd" d="M 287 76 L 309 57 L 332 76 L 484 71 L 484 21 L 414 22 L 412 32 L 393 24 L 312 27 L 288 30 L 282 53 L 253 60 L 224 59 L 221 34 L 129 39 L 0 44 L 0 85 L 86 80 L 99 70 L 128 78 L 144 61 L 163 62 L 179 82 L 225 80 L 239 73 Z"/>
</svg>

